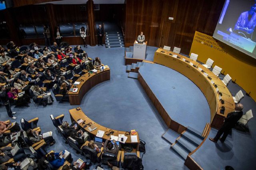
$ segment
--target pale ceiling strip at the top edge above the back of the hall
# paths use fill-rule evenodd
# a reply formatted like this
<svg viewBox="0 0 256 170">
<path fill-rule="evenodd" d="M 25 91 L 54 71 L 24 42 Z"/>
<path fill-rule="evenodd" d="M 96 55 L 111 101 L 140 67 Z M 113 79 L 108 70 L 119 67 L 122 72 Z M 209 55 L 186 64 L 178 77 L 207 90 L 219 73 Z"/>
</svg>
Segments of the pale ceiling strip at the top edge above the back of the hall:
<svg viewBox="0 0 256 170">
<path fill-rule="evenodd" d="M 40 4 L 86 4 L 88 0 L 59 0 Z M 93 0 L 94 4 L 124 4 L 125 0 Z"/>
</svg>

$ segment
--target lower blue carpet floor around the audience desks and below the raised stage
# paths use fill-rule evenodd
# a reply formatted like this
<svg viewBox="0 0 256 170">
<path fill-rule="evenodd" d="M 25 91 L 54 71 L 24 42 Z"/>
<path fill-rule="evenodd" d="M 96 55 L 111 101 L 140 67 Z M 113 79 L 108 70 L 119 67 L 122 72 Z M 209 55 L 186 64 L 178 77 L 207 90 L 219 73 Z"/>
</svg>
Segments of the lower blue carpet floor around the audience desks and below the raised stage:
<svg viewBox="0 0 256 170">
<path fill-rule="evenodd" d="M 154 51 L 156 51 L 156 49 L 156 47 L 147 47 L 147 60 L 153 60 Z M 112 129 L 123 131 L 136 129 L 139 132 L 140 139 L 146 141 L 146 154 L 143 156 L 145 170 L 188 169 L 184 165 L 184 160 L 170 150 L 170 144 L 161 138 L 161 135 L 167 130 L 167 127 L 138 80 L 127 78 L 128 73 L 126 73 L 126 66 L 124 65 L 124 48 L 106 49 L 102 46 L 88 46 L 84 48 L 84 50 L 88 53 L 89 57 L 100 57 L 102 63 L 107 64 L 111 68 L 110 80 L 98 84 L 84 96 L 80 105 L 84 113 L 97 123 Z M 233 88 L 232 92 L 237 92 L 240 89 L 236 84 L 234 84 L 234 86 L 233 84 L 230 84 L 228 87 L 230 86 Z M 205 99 L 203 98 L 202 100 Z M 246 110 L 248 108 L 252 108 L 253 111 L 256 110 L 255 102 L 248 96 L 245 96 L 244 101 L 242 100 L 242 104 L 245 105 Z M 20 122 L 21 118 L 29 120 L 34 117 L 39 117 L 38 125 L 41 127 L 42 132 L 53 131 L 53 137 L 56 140 L 56 144 L 52 147 L 46 147 L 47 151 L 61 151 L 67 149 L 72 153 L 74 160 L 77 158 L 85 160 L 84 156 L 76 154 L 69 145 L 64 143 L 64 140 L 58 134 L 50 120 L 50 114 L 57 116 L 63 113 L 65 115 L 64 120 L 70 122 L 68 109 L 74 107 L 76 106 L 70 106 L 69 103 L 58 102 L 54 102 L 52 106 L 43 107 L 32 102 L 30 107 L 12 106 L 12 110 L 17 112 L 17 122 Z M 0 120 L 7 119 L 9 118 L 5 108 L 0 107 Z M 217 147 L 207 140 L 207 149 L 201 148 L 198 152 L 195 152 L 195 154 L 192 155 L 193 158 L 205 169 L 220 169 L 220 167 L 223 168 L 224 164 L 226 165 L 225 161 L 227 160 L 222 160 L 225 159 L 223 157 L 225 157 L 226 154 L 230 154 L 231 156 L 226 157 L 229 165 L 241 167 L 242 165 L 239 166 L 238 164 L 243 162 L 243 164 L 246 164 L 246 169 L 249 169 L 248 167 L 255 167 L 255 161 L 252 161 L 255 160 L 256 156 L 255 121 L 256 119 L 253 118 L 251 122 L 249 122 L 250 133 L 233 131 L 233 133 L 240 134 L 240 137 L 233 137 L 232 135 L 232 139 L 228 139 L 228 141 L 230 140 L 228 145 L 232 145 L 232 148 L 236 149 L 236 152 L 231 150 L 229 153 L 224 152 L 224 154 L 220 156 L 220 152 L 216 151 L 218 150 Z M 197 122 L 194 123 L 196 124 Z M 212 130 L 210 136 L 214 136 L 215 133 L 216 131 Z M 244 140 L 248 140 L 248 142 L 244 142 Z M 209 161 L 212 156 L 216 160 Z M 249 156 L 251 158 L 249 158 Z M 237 161 L 238 159 L 239 161 Z M 222 164 L 223 161 L 224 163 Z M 215 162 L 221 163 L 214 165 L 213 163 Z M 104 167 L 106 168 L 106 166 Z M 92 166 L 90 170 L 93 168 L 95 168 L 95 166 Z"/>
</svg>

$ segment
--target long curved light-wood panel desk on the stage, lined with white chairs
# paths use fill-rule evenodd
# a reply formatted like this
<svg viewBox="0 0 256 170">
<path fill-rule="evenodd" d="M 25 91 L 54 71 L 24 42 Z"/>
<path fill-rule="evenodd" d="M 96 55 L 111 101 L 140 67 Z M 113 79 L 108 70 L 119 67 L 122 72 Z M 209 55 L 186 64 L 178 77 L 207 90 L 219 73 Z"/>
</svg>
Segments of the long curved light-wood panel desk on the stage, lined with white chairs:
<svg viewBox="0 0 256 170">
<path fill-rule="evenodd" d="M 161 51 L 164 51 L 164 53 L 162 53 Z M 170 53 L 178 55 L 180 59 L 172 57 Z M 202 70 L 204 70 L 205 73 L 207 73 L 208 76 L 212 78 L 214 84 L 218 86 L 219 92 L 222 92 L 221 98 L 222 100 L 224 100 L 224 104 L 222 104 L 221 101 L 219 100 L 220 94 L 216 92 L 216 88 L 214 87 L 214 84 L 211 83 L 211 80 L 208 77 L 206 77 L 204 73 L 201 72 L 198 68 L 191 66 L 190 63 L 185 62 L 182 59 L 186 59 L 190 61 L 190 63 L 193 63 L 194 65 L 198 66 L 198 68 L 202 68 Z M 226 117 L 228 113 L 233 111 L 235 104 L 232 95 L 230 94 L 230 91 L 225 86 L 225 84 L 220 80 L 220 78 L 213 74 L 212 71 L 210 71 L 208 68 L 202 66 L 202 64 L 199 64 L 198 62 L 191 60 L 188 57 L 160 48 L 155 52 L 154 63 L 162 64 L 164 66 L 172 68 L 180 72 L 187 78 L 189 78 L 192 82 L 194 82 L 194 84 L 196 84 L 198 88 L 200 88 L 200 90 L 203 92 L 210 106 L 211 127 L 219 129 L 222 126 L 223 118 Z M 139 74 L 138 80 L 142 82 L 142 79 L 143 78 Z M 225 111 L 223 114 L 220 113 L 221 106 L 225 107 Z M 164 112 L 164 110 L 162 112 Z M 160 114 L 162 115 L 163 113 Z M 162 117 L 164 119 L 165 116 Z"/>
</svg>

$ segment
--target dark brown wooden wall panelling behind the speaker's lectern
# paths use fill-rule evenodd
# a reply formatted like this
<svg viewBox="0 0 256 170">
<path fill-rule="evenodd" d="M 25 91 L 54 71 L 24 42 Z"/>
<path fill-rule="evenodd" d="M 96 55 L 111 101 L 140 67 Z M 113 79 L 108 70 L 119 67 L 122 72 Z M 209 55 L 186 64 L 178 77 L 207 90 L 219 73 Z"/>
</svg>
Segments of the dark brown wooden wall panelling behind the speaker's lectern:
<svg viewBox="0 0 256 170">
<path fill-rule="evenodd" d="M 125 46 L 144 32 L 148 45 L 189 54 L 195 31 L 213 35 L 225 0 L 127 0 Z M 173 17 L 174 20 L 168 20 Z"/>
</svg>

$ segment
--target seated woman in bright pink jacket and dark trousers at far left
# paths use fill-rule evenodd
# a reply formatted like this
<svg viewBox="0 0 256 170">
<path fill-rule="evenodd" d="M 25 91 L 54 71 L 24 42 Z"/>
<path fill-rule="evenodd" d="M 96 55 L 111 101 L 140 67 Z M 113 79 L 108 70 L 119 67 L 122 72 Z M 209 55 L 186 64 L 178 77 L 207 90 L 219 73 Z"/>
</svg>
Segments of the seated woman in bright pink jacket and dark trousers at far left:
<svg viewBox="0 0 256 170">
<path fill-rule="evenodd" d="M 18 96 L 18 89 L 14 87 L 7 87 L 6 88 L 8 98 L 10 99 L 10 102 L 14 102 L 14 100 L 17 98 L 16 106 L 26 106 L 29 107 L 28 102 L 30 102 L 30 96 L 27 94 L 23 94 L 22 96 Z"/>
</svg>

